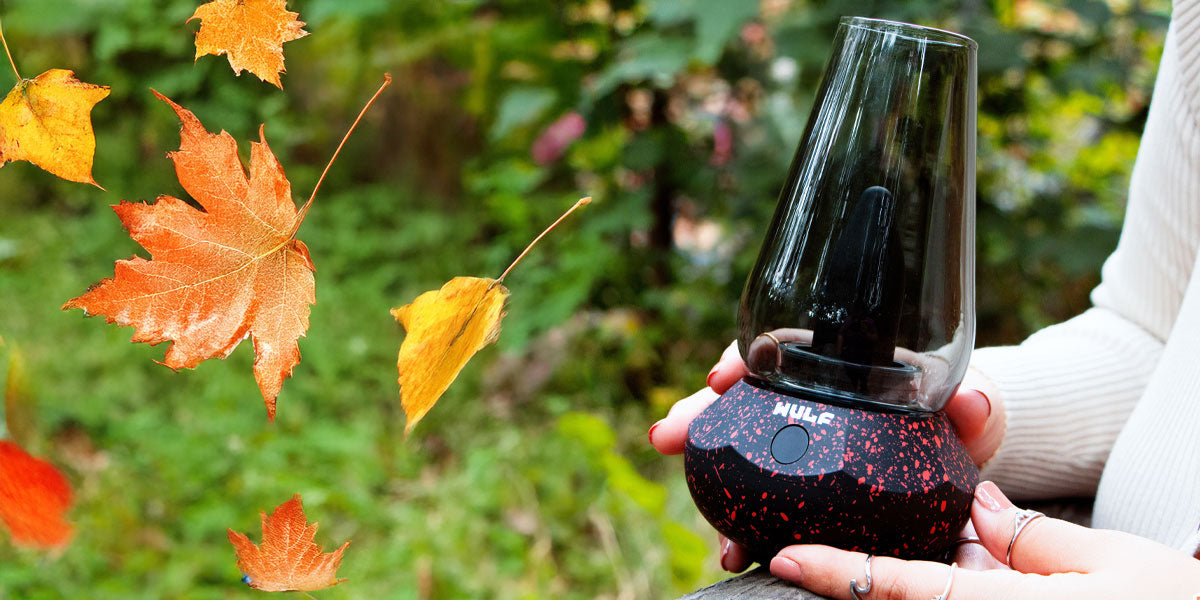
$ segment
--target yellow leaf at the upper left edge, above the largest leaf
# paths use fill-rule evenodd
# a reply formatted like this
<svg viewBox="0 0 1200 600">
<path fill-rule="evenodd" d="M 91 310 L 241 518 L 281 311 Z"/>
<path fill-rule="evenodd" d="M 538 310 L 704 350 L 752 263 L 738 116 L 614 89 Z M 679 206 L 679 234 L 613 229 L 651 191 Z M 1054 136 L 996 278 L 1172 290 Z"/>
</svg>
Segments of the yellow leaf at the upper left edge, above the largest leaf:
<svg viewBox="0 0 1200 600">
<path fill-rule="evenodd" d="M 91 108 L 106 97 L 108 86 L 83 83 L 62 68 L 17 82 L 0 103 L 0 166 L 29 161 L 68 181 L 100 187 L 91 178 Z"/>
</svg>

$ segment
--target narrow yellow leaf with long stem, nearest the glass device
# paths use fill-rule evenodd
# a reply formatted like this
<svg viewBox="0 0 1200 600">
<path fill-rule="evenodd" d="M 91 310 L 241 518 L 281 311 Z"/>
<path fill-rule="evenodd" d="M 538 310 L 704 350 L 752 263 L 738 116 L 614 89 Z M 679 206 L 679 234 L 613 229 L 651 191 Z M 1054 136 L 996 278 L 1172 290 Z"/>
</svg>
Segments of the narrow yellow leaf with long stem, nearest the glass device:
<svg viewBox="0 0 1200 600">
<path fill-rule="evenodd" d="M 496 341 L 504 318 L 509 290 L 500 283 L 514 266 L 566 215 L 592 202 L 576 202 L 563 216 L 541 232 L 516 260 L 494 280 L 455 277 L 440 289 L 425 292 L 412 302 L 392 308 L 404 328 L 396 368 L 400 371 L 400 403 L 404 409 L 404 433 L 425 418 L 472 356 Z"/>
</svg>

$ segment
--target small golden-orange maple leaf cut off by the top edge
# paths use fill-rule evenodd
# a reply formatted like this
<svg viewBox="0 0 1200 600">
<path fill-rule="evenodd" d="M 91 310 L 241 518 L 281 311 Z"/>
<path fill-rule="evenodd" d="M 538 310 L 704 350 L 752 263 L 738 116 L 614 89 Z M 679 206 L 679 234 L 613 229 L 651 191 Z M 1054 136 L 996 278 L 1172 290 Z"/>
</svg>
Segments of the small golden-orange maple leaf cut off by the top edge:
<svg viewBox="0 0 1200 600">
<path fill-rule="evenodd" d="M 299 13 L 286 0 L 214 0 L 200 5 L 187 20 L 200 19 L 196 58 L 224 54 L 234 73 L 242 70 L 283 89 L 283 42 L 306 35 Z"/>
</svg>

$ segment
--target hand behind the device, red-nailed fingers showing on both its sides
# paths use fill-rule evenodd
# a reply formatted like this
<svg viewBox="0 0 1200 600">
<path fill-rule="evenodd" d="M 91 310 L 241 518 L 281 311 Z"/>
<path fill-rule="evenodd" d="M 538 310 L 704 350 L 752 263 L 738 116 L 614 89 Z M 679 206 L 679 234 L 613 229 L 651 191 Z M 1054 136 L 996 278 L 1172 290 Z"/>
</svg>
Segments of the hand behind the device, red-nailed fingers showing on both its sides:
<svg viewBox="0 0 1200 600">
<path fill-rule="evenodd" d="M 666 455 L 682 454 L 691 420 L 745 374 L 746 365 L 738 353 L 737 342 L 731 343 L 709 371 L 708 388 L 676 402 L 671 412 L 650 427 L 650 444 Z M 990 458 L 1000 448 L 1004 437 L 1004 409 L 998 390 L 982 373 L 967 372 L 959 392 L 946 406 L 946 414 L 977 464 Z M 722 569 L 738 572 L 750 565 L 740 546 L 724 536 L 720 544 Z"/>
</svg>

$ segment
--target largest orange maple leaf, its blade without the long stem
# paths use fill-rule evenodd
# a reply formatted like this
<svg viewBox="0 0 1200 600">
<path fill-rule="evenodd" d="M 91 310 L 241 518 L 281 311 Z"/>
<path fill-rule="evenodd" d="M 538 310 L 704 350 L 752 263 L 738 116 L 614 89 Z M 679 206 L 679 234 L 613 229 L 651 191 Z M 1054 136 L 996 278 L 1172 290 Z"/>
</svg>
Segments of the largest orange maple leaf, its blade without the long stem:
<svg viewBox="0 0 1200 600">
<path fill-rule="evenodd" d="M 300 362 L 296 341 L 317 301 L 308 248 L 295 238 L 302 216 L 292 185 L 262 127 L 260 140 L 251 143 L 247 179 L 232 136 L 209 133 L 191 110 L 155 95 L 182 121 L 179 151 L 168 157 L 204 210 L 170 196 L 114 205 L 152 259 L 118 260 L 113 278 L 62 308 L 132 325 L 134 342 L 173 341 L 163 359 L 172 368 L 226 358 L 252 336 L 254 379 L 274 419 L 275 398 Z"/>
</svg>

